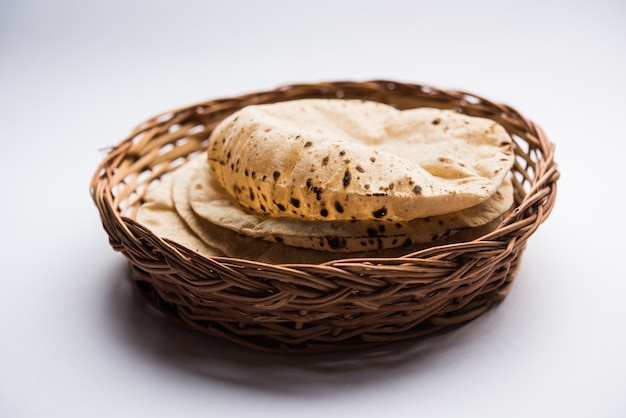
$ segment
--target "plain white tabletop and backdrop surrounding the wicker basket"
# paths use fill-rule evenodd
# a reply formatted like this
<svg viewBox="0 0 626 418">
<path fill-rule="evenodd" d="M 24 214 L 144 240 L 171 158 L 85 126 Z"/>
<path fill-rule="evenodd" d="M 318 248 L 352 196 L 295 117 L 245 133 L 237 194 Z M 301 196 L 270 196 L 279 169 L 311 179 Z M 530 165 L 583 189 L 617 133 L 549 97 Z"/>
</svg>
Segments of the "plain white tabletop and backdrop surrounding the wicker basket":
<svg viewBox="0 0 626 418">
<path fill-rule="evenodd" d="M 626 6 L 0 2 L 2 417 L 626 416 Z M 505 102 L 557 144 L 506 301 L 441 338 L 281 358 L 152 317 L 88 183 L 155 113 L 374 78 Z"/>
</svg>

